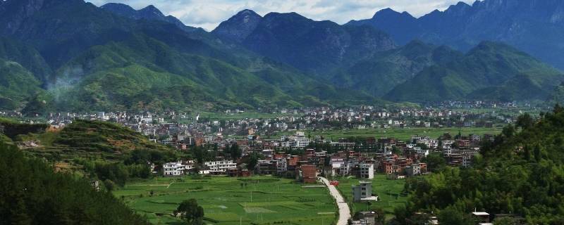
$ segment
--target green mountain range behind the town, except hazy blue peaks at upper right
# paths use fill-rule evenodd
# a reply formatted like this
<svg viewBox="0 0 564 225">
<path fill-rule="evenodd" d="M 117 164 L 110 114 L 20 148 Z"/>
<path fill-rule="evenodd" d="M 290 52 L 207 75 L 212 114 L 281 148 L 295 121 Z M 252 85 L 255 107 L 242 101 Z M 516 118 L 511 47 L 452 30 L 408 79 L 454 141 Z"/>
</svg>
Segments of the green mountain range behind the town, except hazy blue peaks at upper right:
<svg viewBox="0 0 564 225">
<path fill-rule="evenodd" d="M 458 7 L 470 6 L 440 13 Z M 0 108 L 37 114 L 544 101 L 564 80 L 562 72 L 511 41 L 469 35 L 481 41 L 460 48 L 419 38 L 430 30 L 419 25 L 422 18 L 408 20 L 407 13 L 391 10 L 374 18 L 338 25 L 298 13 L 245 10 L 206 32 L 154 6 L 0 1 Z M 415 32 L 403 35 L 381 22 L 394 20 L 411 21 L 417 29 L 403 27 Z"/>
</svg>

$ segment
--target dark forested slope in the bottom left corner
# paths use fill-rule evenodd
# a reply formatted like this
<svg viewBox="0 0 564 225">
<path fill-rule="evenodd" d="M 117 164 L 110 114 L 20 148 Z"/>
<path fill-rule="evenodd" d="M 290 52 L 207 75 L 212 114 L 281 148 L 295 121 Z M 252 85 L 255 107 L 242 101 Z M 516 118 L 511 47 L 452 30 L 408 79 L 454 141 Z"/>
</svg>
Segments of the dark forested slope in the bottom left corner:
<svg viewBox="0 0 564 225">
<path fill-rule="evenodd" d="M 148 224 L 90 181 L 0 143 L 0 224 Z"/>
</svg>

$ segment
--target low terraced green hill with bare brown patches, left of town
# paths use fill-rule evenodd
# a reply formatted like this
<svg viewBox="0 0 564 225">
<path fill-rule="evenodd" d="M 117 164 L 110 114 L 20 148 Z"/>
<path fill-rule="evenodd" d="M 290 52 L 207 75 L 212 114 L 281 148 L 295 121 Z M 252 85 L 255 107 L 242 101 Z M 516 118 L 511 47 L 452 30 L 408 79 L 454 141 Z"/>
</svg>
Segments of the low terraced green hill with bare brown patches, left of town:
<svg viewBox="0 0 564 225">
<path fill-rule="evenodd" d="M 34 127 L 19 126 L 23 131 Z M 109 190 L 129 179 L 152 177 L 148 162 L 162 164 L 178 158 L 171 148 L 111 122 L 76 120 L 61 131 L 20 134 L 16 139 L 38 141 L 40 146 L 28 148 L 26 153 L 55 162 L 58 169 L 104 181 Z"/>
</svg>

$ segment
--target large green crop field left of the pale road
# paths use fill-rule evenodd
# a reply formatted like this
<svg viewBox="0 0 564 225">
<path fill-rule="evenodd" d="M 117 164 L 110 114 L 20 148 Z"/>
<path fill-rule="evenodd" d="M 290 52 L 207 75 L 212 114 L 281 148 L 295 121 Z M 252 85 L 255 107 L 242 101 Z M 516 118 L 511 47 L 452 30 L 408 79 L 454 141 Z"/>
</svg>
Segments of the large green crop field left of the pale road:
<svg viewBox="0 0 564 225">
<path fill-rule="evenodd" d="M 181 224 L 171 214 L 190 198 L 204 207 L 207 224 L 324 225 L 333 224 L 337 217 L 327 188 L 304 188 L 291 179 L 271 176 L 137 180 L 114 195 L 153 224 Z"/>
</svg>

